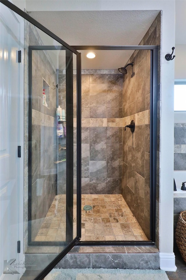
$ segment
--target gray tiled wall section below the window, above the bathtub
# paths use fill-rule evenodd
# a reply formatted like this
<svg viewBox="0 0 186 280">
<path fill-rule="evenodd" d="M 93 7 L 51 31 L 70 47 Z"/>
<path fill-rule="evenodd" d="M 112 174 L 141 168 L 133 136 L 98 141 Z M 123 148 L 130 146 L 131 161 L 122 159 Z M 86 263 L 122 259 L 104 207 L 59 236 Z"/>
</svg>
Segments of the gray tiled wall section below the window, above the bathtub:
<svg viewBox="0 0 186 280">
<path fill-rule="evenodd" d="M 186 170 L 186 123 L 174 124 L 174 170 Z"/>
</svg>

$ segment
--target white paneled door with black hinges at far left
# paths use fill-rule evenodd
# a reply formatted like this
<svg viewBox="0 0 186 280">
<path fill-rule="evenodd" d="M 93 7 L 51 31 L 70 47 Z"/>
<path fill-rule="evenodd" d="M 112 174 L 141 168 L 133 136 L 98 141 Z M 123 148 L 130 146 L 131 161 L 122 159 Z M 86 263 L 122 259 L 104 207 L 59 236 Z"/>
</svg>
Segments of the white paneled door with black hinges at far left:
<svg viewBox="0 0 186 280">
<path fill-rule="evenodd" d="M 0 279 L 17 280 L 18 236 L 18 102 L 20 22 L 0 9 Z"/>
</svg>

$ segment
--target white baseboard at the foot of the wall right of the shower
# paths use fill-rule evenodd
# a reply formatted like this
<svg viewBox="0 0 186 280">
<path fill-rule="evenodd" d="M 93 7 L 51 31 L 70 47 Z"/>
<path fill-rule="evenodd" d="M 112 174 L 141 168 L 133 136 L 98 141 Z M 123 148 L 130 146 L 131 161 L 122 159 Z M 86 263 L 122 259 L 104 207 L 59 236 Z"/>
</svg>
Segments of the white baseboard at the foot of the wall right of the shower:
<svg viewBox="0 0 186 280">
<path fill-rule="evenodd" d="M 160 269 L 165 271 L 176 271 L 174 253 L 160 253 Z"/>
</svg>

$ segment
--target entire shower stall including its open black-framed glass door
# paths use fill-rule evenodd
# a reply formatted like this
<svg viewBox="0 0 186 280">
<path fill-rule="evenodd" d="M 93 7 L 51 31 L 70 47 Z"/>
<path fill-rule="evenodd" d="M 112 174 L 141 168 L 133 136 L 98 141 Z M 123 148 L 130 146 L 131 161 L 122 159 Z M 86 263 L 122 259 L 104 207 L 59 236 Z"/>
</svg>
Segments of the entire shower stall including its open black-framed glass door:
<svg viewBox="0 0 186 280">
<path fill-rule="evenodd" d="M 24 184 L 17 187 L 24 220 L 16 229 L 24 236 L 16 237 L 16 254 L 22 244 L 25 262 L 34 261 L 27 275 L 42 279 L 78 242 L 155 245 L 156 42 L 69 46 L 2 2 L 24 19 Z M 81 70 L 87 49 L 130 51 L 130 58 L 119 69 L 82 60 Z"/>
</svg>

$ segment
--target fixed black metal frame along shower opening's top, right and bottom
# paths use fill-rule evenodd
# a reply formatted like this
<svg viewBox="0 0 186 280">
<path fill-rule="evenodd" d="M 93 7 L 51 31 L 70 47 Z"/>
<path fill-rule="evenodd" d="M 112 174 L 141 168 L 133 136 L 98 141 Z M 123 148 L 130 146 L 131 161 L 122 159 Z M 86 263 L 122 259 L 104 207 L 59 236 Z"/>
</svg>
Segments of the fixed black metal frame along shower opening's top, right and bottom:
<svg viewBox="0 0 186 280">
<path fill-rule="evenodd" d="M 79 241 L 81 246 L 150 246 L 156 234 L 157 71 L 158 46 L 72 46 L 76 50 L 150 50 L 150 241 Z"/>
</svg>

